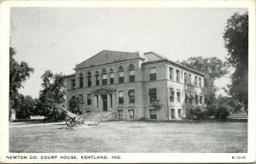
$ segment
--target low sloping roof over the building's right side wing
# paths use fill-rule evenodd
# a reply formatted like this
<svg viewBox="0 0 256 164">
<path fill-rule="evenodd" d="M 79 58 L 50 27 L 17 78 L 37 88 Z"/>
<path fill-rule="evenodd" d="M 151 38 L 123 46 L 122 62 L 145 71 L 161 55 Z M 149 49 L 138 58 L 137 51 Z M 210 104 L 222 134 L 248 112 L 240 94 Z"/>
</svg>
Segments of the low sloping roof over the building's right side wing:
<svg viewBox="0 0 256 164">
<path fill-rule="evenodd" d="M 148 64 L 152 64 L 152 63 L 156 63 L 156 62 L 168 62 L 171 63 L 172 65 L 177 65 L 187 71 L 191 71 L 194 72 L 196 74 L 199 74 L 201 76 L 205 76 L 204 73 L 200 72 L 200 71 L 195 71 L 194 69 L 191 69 L 187 66 L 181 65 L 177 62 L 172 61 L 171 59 L 168 59 L 166 56 L 161 55 L 161 54 L 156 54 L 153 51 L 148 52 L 148 53 L 144 53 L 145 58 L 147 59 L 146 62 L 143 63 L 143 65 L 148 65 Z"/>
</svg>

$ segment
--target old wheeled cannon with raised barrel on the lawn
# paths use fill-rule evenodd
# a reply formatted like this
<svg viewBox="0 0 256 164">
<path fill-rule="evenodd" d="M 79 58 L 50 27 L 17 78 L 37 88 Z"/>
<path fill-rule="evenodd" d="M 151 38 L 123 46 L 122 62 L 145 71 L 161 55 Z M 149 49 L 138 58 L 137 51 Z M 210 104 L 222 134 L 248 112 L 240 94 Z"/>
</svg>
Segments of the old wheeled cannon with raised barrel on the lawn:
<svg viewBox="0 0 256 164">
<path fill-rule="evenodd" d="M 77 116 L 77 115 L 73 114 L 72 112 L 63 109 L 64 106 L 61 106 L 61 107 L 62 107 L 61 110 L 63 110 L 64 114 L 67 116 L 67 119 L 66 119 L 67 127 L 79 127 L 82 124 L 84 124 L 83 117 Z"/>
</svg>

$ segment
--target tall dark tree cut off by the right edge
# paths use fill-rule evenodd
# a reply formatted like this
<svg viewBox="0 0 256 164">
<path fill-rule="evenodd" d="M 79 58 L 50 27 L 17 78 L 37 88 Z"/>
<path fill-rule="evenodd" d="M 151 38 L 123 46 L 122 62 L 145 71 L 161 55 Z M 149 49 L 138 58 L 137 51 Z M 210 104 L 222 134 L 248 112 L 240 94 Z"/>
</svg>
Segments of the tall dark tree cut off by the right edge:
<svg viewBox="0 0 256 164">
<path fill-rule="evenodd" d="M 228 50 L 228 62 L 236 68 L 231 76 L 227 93 L 241 102 L 247 110 L 248 102 L 248 13 L 233 14 L 224 30 L 224 46 Z"/>
</svg>

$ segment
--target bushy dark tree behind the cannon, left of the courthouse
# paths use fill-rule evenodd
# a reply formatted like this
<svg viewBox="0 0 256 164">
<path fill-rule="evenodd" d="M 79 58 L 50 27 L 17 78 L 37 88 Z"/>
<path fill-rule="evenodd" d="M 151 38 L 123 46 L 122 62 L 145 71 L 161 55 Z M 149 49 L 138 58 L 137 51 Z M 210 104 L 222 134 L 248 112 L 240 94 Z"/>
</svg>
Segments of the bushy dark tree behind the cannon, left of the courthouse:
<svg viewBox="0 0 256 164">
<path fill-rule="evenodd" d="M 61 74 L 54 75 L 51 71 L 45 71 L 41 78 L 43 89 L 39 93 L 37 109 L 42 110 L 42 114 L 50 120 L 56 120 L 61 115 L 58 106 L 63 105 L 66 100 L 65 78 Z"/>
</svg>

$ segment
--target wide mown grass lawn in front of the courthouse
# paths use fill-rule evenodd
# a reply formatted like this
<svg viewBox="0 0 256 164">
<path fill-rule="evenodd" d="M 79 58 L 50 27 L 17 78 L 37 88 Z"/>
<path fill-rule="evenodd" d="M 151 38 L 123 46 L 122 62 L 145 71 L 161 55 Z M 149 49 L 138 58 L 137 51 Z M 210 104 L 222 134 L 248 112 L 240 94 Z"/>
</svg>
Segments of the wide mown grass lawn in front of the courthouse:
<svg viewBox="0 0 256 164">
<path fill-rule="evenodd" d="M 243 153 L 247 122 L 101 122 L 9 128 L 9 151 L 20 153 Z"/>
</svg>

